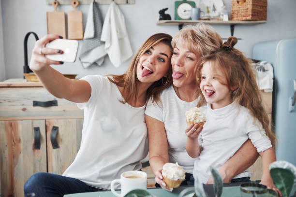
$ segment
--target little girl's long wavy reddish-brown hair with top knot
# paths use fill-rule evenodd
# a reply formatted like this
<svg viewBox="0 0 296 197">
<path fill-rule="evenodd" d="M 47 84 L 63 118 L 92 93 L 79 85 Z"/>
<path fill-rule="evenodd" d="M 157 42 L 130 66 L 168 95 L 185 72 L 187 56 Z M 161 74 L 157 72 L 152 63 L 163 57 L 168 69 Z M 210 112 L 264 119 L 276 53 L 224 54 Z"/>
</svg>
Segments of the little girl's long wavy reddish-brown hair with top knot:
<svg viewBox="0 0 296 197">
<path fill-rule="evenodd" d="M 200 84 L 202 65 L 204 63 L 210 61 L 218 65 L 226 77 L 228 88 L 236 88 L 231 94 L 232 101 L 251 111 L 252 116 L 262 124 L 266 135 L 274 147 L 276 138 L 269 128 L 269 119 L 262 105 L 260 90 L 256 83 L 255 70 L 252 68 L 250 59 L 245 57 L 242 52 L 233 48 L 236 43 L 236 37 L 229 37 L 222 44 L 221 49 L 205 56 L 197 70 L 197 82 Z M 202 96 L 198 106 L 202 106 L 205 103 L 206 99 Z"/>
</svg>

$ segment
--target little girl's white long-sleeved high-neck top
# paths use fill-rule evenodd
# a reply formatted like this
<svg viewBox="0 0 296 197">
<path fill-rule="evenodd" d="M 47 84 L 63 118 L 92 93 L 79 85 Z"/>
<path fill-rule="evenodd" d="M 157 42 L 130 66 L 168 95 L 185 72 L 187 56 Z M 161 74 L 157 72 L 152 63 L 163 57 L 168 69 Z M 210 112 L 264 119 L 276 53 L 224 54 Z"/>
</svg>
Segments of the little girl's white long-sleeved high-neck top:
<svg viewBox="0 0 296 197">
<path fill-rule="evenodd" d="M 198 136 L 202 151 L 194 162 L 194 170 L 197 170 L 202 183 L 207 183 L 211 177 L 210 166 L 218 170 L 249 138 L 258 153 L 272 147 L 262 125 L 258 120 L 254 121 L 247 108 L 233 102 L 216 110 L 212 110 L 210 105 L 199 109 L 207 117 Z M 251 175 L 251 172 L 245 170 L 234 178 Z"/>
</svg>

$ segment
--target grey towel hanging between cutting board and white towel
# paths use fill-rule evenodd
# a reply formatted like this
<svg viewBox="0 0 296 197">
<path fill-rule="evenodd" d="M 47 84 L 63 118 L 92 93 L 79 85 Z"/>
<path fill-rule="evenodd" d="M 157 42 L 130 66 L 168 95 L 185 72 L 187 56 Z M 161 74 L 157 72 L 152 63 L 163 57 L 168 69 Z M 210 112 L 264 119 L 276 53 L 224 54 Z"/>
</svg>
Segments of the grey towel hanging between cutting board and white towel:
<svg viewBox="0 0 296 197">
<path fill-rule="evenodd" d="M 88 19 L 79 56 L 85 69 L 94 63 L 100 66 L 104 62 L 106 52 L 104 42 L 101 41 L 102 28 L 103 17 L 98 3 L 93 1 L 89 5 Z"/>
</svg>

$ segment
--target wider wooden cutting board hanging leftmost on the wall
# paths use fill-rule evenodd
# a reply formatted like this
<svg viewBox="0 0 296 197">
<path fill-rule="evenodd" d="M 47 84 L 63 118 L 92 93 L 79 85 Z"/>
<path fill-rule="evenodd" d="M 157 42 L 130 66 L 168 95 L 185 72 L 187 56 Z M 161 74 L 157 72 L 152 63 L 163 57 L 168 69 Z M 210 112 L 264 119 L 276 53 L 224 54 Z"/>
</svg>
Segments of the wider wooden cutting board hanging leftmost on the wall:
<svg viewBox="0 0 296 197">
<path fill-rule="evenodd" d="M 47 33 L 57 34 L 66 39 L 65 13 L 57 11 L 58 4 L 59 2 L 54 0 L 52 5 L 55 10 L 53 12 L 46 12 Z"/>
</svg>

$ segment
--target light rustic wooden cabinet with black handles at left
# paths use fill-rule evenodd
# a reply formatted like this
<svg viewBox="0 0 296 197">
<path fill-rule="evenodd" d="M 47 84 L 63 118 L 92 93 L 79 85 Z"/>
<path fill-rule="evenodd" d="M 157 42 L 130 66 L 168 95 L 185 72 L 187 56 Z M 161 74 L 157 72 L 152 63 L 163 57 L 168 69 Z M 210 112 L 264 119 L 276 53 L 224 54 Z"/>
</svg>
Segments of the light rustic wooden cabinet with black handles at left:
<svg viewBox="0 0 296 197">
<path fill-rule="evenodd" d="M 33 101 L 51 100 L 58 105 L 33 106 Z M 55 98 L 40 83 L 0 83 L 2 196 L 23 197 L 24 183 L 36 172 L 62 174 L 79 150 L 82 125 L 83 111 L 73 102 Z M 58 130 L 55 139 L 51 139 L 53 128 Z"/>
</svg>

